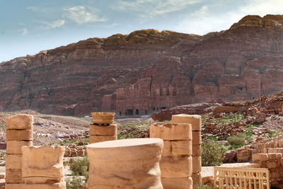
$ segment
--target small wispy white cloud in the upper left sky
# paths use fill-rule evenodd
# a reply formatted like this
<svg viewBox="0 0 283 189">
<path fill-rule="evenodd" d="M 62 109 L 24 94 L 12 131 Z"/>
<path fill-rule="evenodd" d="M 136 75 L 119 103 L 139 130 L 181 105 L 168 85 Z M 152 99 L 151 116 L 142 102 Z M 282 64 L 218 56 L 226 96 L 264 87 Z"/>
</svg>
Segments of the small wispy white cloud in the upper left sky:
<svg viewBox="0 0 283 189">
<path fill-rule="evenodd" d="M 64 8 L 63 17 L 78 24 L 103 22 L 106 18 L 98 16 L 98 9 L 85 6 Z"/>
</svg>

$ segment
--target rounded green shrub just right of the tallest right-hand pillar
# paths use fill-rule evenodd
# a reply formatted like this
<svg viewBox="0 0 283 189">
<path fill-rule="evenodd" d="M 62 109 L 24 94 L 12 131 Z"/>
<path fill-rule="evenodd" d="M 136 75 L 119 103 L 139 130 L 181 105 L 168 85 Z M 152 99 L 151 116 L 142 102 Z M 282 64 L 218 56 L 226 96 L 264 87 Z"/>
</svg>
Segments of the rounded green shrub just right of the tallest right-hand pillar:
<svg viewBox="0 0 283 189">
<path fill-rule="evenodd" d="M 221 147 L 212 140 L 202 143 L 202 166 L 220 166 L 222 161 Z"/>
</svg>

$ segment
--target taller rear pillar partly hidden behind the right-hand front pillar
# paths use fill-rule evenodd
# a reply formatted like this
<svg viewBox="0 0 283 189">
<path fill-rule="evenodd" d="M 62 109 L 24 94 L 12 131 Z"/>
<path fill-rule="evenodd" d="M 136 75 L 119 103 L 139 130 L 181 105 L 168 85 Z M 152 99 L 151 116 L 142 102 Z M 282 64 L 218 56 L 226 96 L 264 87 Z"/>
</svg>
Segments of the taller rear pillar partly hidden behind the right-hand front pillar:
<svg viewBox="0 0 283 189">
<path fill-rule="evenodd" d="M 202 117 L 200 115 L 172 115 L 172 123 L 192 125 L 192 181 L 193 185 L 202 182 Z"/>
</svg>

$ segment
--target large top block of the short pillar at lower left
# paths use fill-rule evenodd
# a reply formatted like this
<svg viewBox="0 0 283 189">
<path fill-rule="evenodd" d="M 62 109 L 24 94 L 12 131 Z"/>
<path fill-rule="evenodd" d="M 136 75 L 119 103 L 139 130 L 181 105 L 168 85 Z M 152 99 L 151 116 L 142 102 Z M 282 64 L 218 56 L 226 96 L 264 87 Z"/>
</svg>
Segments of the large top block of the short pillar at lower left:
<svg viewBox="0 0 283 189">
<path fill-rule="evenodd" d="M 63 178 L 65 147 L 23 147 L 23 178 Z"/>
</svg>

